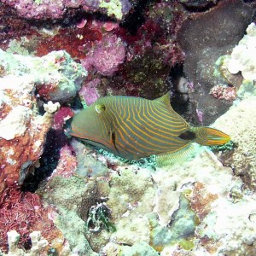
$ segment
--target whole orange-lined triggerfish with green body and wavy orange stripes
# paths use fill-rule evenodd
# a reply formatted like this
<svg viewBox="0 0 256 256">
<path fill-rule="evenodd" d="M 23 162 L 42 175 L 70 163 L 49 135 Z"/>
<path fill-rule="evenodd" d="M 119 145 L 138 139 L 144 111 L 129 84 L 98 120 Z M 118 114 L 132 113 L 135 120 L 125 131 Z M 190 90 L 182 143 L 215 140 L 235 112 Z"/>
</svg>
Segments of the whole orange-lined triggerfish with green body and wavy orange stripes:
<svg viewBox="0 0 256 256">
<path fill-rule="evenodd" d="M 191 143 L 222 145 L 230 137 L 209 127 L 191 127 L 170 104 L 170 93 L 154 101 L 106 96 L 77 113 L 70 135 L 125 159 L 156 155 L 158 165 L 180 160 Z"/>
</svg>

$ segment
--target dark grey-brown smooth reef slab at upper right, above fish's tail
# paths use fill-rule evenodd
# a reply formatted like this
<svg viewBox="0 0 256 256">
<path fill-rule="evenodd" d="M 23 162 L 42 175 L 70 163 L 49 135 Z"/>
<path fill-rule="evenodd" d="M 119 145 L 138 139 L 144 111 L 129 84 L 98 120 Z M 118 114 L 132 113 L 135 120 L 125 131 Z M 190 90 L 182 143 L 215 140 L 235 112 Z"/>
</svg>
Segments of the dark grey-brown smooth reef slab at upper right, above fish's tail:
<svg viewBox="0 0 256 256">
<path fill-rule="evenodd" d="M 204 125 L 231 106 L 230 101 L 219 101 L 209 94 L 219 83 L 213 76 L 214 66 L 239 42 L 252 16 L 253 8 L 241 0 L 224 0 L 205 13 L 191 15 L 177 32 L 177 42 L 186 55 L 184 73 L 194 83 L 189 104 L 193 113 L 201 111 Z"/>
</svg>

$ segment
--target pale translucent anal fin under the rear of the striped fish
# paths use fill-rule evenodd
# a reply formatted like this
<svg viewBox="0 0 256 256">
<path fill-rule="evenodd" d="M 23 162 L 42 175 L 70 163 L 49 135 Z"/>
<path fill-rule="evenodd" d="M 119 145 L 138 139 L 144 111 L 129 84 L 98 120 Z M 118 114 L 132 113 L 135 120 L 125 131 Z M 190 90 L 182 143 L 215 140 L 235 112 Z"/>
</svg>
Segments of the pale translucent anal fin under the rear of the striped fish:
<svg viewBox="0 0 256 256">
<path fill-rule="evenodd" d="M 174 163 L 181 163 L 189 158 L 193 152 L 194 146 L 192 143 L 177 151 L 166 152 L 165 154 L 156 154 L 155 160 L 157 166 L 167 166 Z"/>
</svg>

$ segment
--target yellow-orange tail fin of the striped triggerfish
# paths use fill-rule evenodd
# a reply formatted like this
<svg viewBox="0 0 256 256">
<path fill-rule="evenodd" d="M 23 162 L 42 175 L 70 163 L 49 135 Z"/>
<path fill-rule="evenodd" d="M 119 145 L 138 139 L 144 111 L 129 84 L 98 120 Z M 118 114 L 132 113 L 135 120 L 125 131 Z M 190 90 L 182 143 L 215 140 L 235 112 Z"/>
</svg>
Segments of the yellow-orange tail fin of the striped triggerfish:
<svg viewBox="0 0 256 256">
<path fill-rule="evenodd" d="M 214 128 L 195 127 L 191 130 L 195 132 L 195 139 L 193 142 L 203 146 L 223 145 L 230 141 L 229 135 Z"/>
</svg>

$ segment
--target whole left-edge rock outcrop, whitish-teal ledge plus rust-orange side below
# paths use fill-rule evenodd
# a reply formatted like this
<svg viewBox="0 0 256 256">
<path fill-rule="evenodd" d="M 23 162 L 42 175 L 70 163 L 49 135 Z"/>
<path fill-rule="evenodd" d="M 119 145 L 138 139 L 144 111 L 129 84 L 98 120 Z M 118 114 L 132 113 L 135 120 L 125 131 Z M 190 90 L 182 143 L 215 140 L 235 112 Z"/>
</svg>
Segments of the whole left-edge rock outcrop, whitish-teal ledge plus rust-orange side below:
<svg viewBox="0 0 256 256">
<path fill-rule="evenodd" d="M 46 134 L 60 108 L 59 103 L 48 102 L 40 115 L 35 92 L 46 100 L 67 101 L 80 89 L 86 72 L 64 51 L 33 58 L 0 50 L 0 59 L 2 193 L 6 185 L 23 183 L 27 172 L 38 166 Z"/>
</svg>

